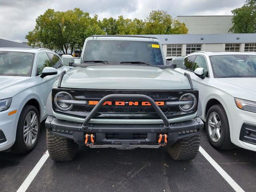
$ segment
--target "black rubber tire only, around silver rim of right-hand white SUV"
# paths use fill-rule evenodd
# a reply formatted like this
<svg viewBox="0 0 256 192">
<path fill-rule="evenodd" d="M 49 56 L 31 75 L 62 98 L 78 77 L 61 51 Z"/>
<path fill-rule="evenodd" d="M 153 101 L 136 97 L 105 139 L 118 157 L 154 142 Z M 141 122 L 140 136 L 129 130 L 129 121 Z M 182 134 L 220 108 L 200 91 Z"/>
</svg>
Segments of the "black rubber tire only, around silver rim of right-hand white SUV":
<svg viewBox="0 0 256 192">
<path fill-rule="evenodd" d="M 220 121 L 221 121 L 222 133 L 220 136 L 220 140 L 218 142 L 213 142 L 209 136 L 208 119 L 212 112 L 216 112 L 218 114 L 218 116 L 220 117 Z M 230 129 L 229 129 L 229 123 L 228 123 L 228 116 L 227 116 L 226 111 L 222 105 L 214 105 L 208 110 L 207 115 L 206 115 L 205 128 L 206 128 L 206 134 L 208 136 L 208 140 L 214 148 L 221 149 L 221 150 L 231 150 L 234 148 L 234 144 L 230 140 Z"/>
</svg>

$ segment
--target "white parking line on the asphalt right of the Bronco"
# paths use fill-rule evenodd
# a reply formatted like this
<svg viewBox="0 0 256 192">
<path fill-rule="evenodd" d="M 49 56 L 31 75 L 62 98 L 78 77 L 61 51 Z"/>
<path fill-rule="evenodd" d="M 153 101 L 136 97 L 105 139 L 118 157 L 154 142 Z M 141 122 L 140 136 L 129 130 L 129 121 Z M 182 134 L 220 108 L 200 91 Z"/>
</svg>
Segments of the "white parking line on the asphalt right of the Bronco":
<svg viewBox="0 0 256 192">
<path fill-rule="evenodd" d="M 213 160 L 213 158 L 211 158 L 211 156 L 201 146 L 199 147 L 199 151 L 236 192 L 244 192 L 244 190 L 226 173 L 226 171 L 224 171 L 218 165 L 218 163 L 216 163 L 216 161 Z"/>
</svg>

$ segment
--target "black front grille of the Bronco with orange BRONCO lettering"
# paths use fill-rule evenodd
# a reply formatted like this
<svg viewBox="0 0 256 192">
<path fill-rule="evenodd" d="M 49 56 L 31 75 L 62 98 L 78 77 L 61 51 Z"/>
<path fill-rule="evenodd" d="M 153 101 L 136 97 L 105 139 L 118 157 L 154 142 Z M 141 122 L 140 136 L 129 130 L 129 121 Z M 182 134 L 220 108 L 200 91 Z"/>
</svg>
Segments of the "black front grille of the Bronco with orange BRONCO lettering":
<svg viewBox="0 0 256 192">
<path fill-rule="evenodd" d="M 192 93 L 196 96 L 198 101 L 198 91 L 197 90 L 85 90 L 85 89 L 67 89 L 67 88 L 54 88 L 52 90 L 52 96 L 54 98 L 55 94 L 59 91 L 68 92 L 74 100 L 84 100 L 86 104 L 76 105 L 68 111 L 60 111 L 53 103 L 53 108 L 56 112 L 62 114 L 68 114 L 71 116 L 76 116 L 80 118 L 85 118 L 92 111 L 97 102 L 104 96 L 109 94 L 142 94 L 147 95 L 152 98 L 155 102 L 158 102 L 158 106 L 164 112 L 167 118 L 173 118 L 178 116 L 185 116 L 188 114 L 195 113 L 196 107 L 190 112 L 182 112 L 179 106 L 166 105 L 166 102 L 176 102 L 179 101 L 180 96 L 186 93 Z M 94 104 L 90 104 L 94 103 Z M 158 114 L 154 108 L 147 104 L 142 104 L 140 100 L 112 100 L 109 103 L 102 105 L 100 110 L 97 111 L 93 118 L 105 118 L 105 119 L 159 119 Z M 116 104 L 116 102 L 122 102 L 122 105 Z M 130 102 L 137 104 L 130 104 Z"/>
</svg>

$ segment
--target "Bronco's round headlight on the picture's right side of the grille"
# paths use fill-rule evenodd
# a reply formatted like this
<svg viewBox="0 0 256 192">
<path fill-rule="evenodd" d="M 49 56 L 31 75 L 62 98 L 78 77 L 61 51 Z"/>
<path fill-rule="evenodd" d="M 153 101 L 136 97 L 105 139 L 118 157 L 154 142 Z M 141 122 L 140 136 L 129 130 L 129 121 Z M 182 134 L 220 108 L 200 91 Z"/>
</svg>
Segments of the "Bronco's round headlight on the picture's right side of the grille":
<svg viewBox="0 0 256 192">
<path fill-rule="evenodd" d="M 183 112 L 190 112 L 196 106 L 196 96 L 191 93 L 183 94 L 180 97 L 180 101 L 184 102 L 184 104 L 179 105 L 180 110 Z"/>
</svg>

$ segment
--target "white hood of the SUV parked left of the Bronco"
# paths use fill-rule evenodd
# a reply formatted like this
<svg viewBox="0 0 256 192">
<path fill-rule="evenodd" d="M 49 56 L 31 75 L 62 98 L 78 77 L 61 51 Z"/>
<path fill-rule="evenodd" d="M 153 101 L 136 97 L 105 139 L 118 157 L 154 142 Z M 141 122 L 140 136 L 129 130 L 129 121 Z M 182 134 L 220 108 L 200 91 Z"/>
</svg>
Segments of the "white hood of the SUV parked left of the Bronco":
<svg viewBox="0 0 256 192">
<path fill-rule="evenodd" d="M 0 99 L 10 98 L 32 86 L 31 77 L 0 76 Z"/>
</svg>

